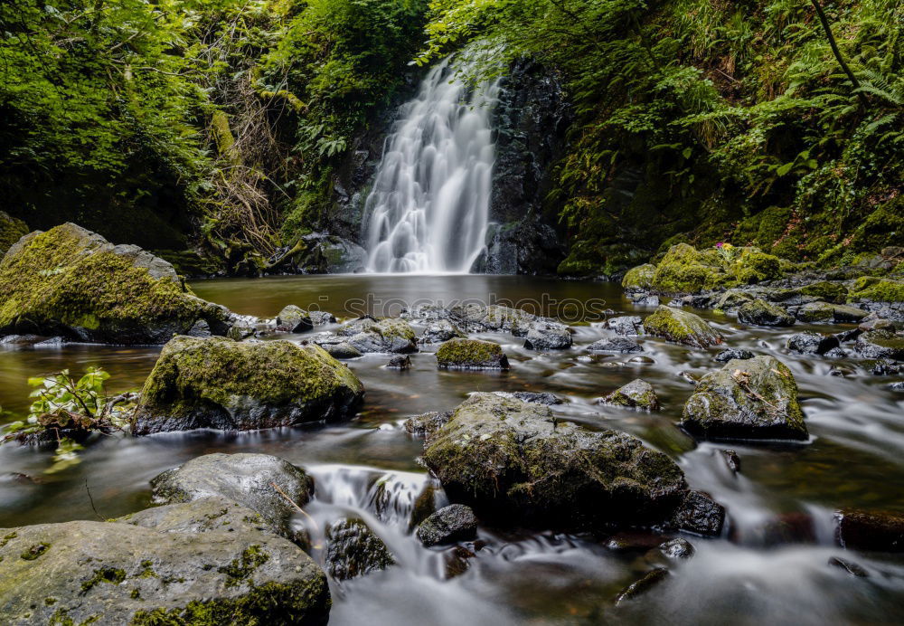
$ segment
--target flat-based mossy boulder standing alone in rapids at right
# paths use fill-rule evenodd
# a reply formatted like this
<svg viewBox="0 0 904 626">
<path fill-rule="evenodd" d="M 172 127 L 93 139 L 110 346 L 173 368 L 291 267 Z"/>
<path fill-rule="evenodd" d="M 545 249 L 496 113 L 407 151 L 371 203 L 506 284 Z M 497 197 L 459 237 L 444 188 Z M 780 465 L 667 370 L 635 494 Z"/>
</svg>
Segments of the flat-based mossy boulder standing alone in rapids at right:
<svg viewBox="0 0 904 626">
<path fill-rule="evenodd" d="M 808 436 L 787 365 L 772 356 L 731 360 L 702 377 L 684 404 L 682 427 L 714 439 L 790 439 Z"/>
</svg>

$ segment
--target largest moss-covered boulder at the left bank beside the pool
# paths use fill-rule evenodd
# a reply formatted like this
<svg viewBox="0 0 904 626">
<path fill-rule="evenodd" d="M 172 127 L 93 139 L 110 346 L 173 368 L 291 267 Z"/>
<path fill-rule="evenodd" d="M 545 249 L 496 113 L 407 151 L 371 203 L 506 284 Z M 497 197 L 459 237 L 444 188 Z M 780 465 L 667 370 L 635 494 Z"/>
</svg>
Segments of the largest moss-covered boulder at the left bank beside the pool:
<svg viewBox="0 0 904 626">
<path fill-rule="evenodd" d="M 163 259 L 73 223 L 25 235 L 0 261 L 0 335 L 163 344 L 199 320 L 224 335 L 232 316 L 195 297 Z"/>
</svg>

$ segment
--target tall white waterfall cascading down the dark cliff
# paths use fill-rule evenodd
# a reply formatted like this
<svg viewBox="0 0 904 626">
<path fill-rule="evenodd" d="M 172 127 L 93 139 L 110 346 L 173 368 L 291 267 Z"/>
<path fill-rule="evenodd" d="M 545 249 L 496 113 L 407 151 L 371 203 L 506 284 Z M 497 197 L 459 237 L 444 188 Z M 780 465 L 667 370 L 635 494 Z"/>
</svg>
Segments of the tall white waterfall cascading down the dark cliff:
<svg viewBox="0 0 904 626">
<path fill-rule="evenodd" d="M 465 273 L 484 249 L 498 81 L 469 90 L 447 59 L 401 109 L 367 197 L 368 270 Z"/>
</svg>

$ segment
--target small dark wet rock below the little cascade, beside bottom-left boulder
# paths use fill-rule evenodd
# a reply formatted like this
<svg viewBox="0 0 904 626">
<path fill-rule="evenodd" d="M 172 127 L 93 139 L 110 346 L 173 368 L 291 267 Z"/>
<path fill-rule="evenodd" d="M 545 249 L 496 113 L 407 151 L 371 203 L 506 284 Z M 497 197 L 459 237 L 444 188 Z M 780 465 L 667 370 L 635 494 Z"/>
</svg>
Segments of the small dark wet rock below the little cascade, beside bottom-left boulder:
<svg viewBox="0 0 904 626">
<path fill-rule="evenodd" d="M 326 529 L 326 572 L 344 581 L 395 564 L 383 540 L 360 519 L 341 519 Z"/>
</svg>

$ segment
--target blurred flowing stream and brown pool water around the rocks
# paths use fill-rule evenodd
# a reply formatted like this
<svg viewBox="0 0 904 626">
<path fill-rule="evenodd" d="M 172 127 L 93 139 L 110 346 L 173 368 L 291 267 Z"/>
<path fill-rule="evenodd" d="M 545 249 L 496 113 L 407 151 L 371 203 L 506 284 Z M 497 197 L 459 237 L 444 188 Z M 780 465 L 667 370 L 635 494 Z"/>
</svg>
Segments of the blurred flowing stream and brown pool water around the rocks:
<svg viewBox="0 0 904 626">
<path fill-rule="evenodd" d="M 904 609 L 904 556 L 845 551 L 833 538 L 839 508 L 904 514 L 904 394 L 885 385 L 890 378 L 870 375 L 856 361 L 789 354 L 786 337 L 806 325 L 747 327 L 697 311 L 719 328 L 727 346 L 777 356 L 791 368 L 811 434 L 796 445 L 729 445 L 696 443 L 676 426 L 692 393 L 679 372 L 700 376 L 720 367 L 713 360 L 720 348 L 696 350 L 640 337 L 642 355 L 652 362 L 589 355 L 586 346 L 604 334 L 606 309 L 615 315 L 652 312 L 634 306 L 617 285 L 364 274 L 206 280 L 192 288 L 238 313 L 268 318 L 287 304 L 349 317 L 398 315 L 416 303 L 507 300 L 560 317 L 576 332 L 572 348 L 541 353 L 508 334 L 473 336 L 503 345 L 512 364 L 503 373 L 438 370 L 433 346 L 411 355 L 408 371 L 385 368 L 388 355 L 348 361 L 366 388 L 363 409 L 351 422 L 108 437 L 90 445 L 79 465 L 54 475 L 42 473 L 51 451 L 5 445 L 0 527 L 125 515 L 148 506 L 148 481 L 163 470 L 213 451 L 254 451 L 282 457 L 315 477 L 315 498 L 306 515 L 294 520 L 307 526 L 315 559 L 323 558 L 325 526 L 350 515 L 371 526 L 395 556 L 397 564 L 384 571 L 331 583 L 331 625 L 887 623 Z M 329 327 L 317 328 L 323 329 Z M 111 374 L 110 390 L 120 391 L 140 386 L 158 353 L 159 347 L 0 346 L 0 404 L 11 413 L 4 419 L 27 409 L 29 376 L 102 365 Z M 637 377 L 653 384 L 661 412 L 594 403 Z M 430 478 L 417 462 L 421 441 L 401 422 L 451 409 L 470 392 L 520 390 L 557 394 L 565 402 L 552 409 L 561 419 L 629 432 L 671 455 L 691 488 L 727 508 L 728 528 L 718 539 L 686 536 L 696 554 L 668 563 L 664 583 L 618 606 L 613 599 L 620 589 L 665 563 L 645 549 L 607 547 L 601 537 L 483 526 L 478 540 L 463 547 L 423 547 L 408 519 Z M 726 449 L 739 455 L 738 474 L 725 463 Z M 435 498 L 440 505 L 445 501 L 441 490 Z M 861 565 L 869 576 L 831 566 L 833 556 Z"/>
</svg>

